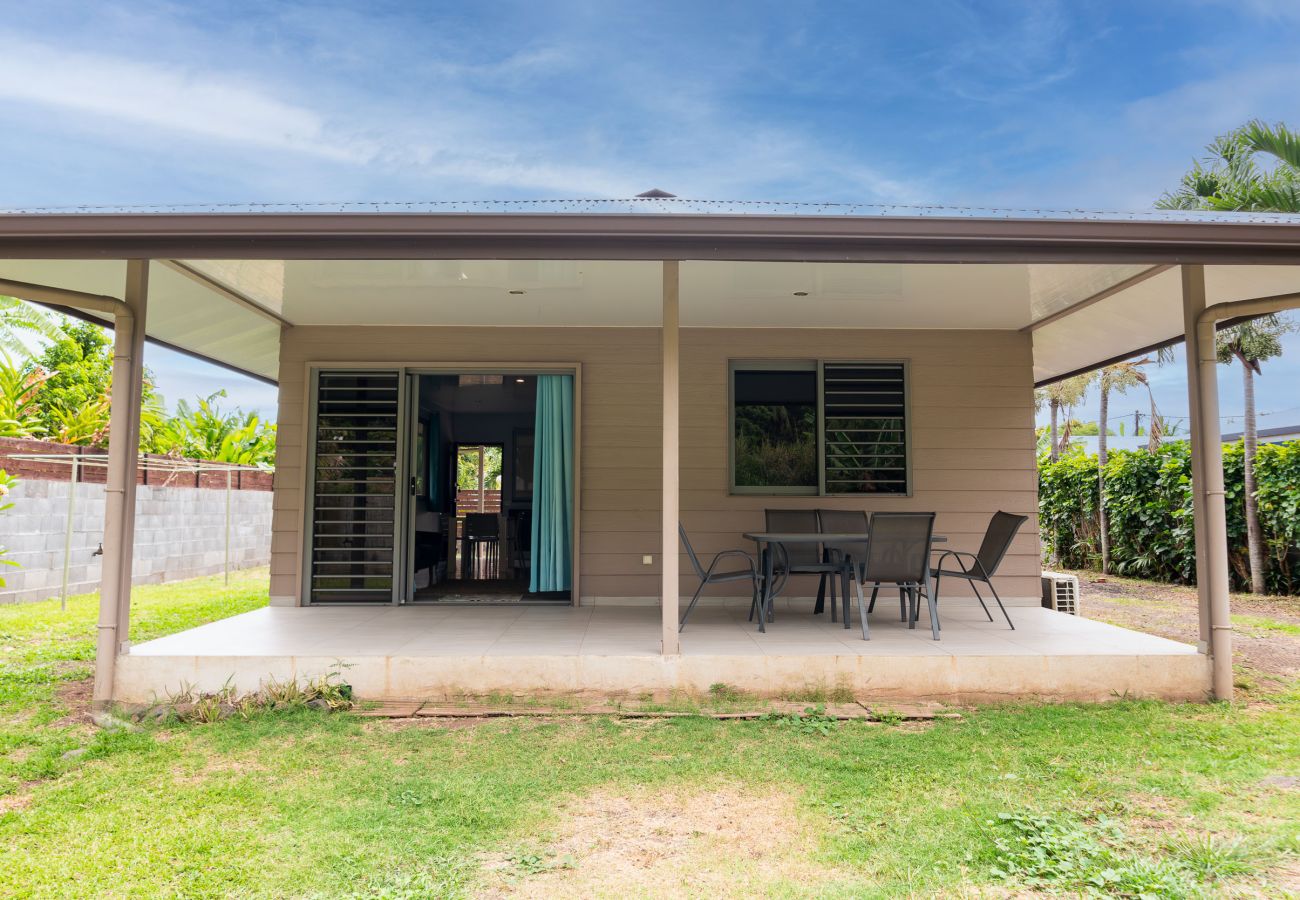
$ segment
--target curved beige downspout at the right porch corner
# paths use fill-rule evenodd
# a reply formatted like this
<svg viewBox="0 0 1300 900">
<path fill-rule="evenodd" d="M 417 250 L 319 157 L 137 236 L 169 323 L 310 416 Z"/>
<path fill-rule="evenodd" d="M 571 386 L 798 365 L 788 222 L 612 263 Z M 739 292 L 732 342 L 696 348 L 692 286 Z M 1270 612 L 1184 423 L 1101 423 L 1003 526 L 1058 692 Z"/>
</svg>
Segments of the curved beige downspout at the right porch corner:
<svg viewBox="0 0 1300 900">
<path fill-rule="evenodd" d="M 1197 503 L 1205 509 L 1205 553 L 1209 580 L 1210 672 L 1217 700 L 1232 698 L 1232 619 L 1228 605 L 1227 507 L 1223 499 L 1223 442 L 1219 432 L 1218 354 L 1216 324 L 1242 316 L 1266 316 L 1300 308 L 1300 291 L 1234 300 L 1205 307 L 1196 316 L 1197 381 L 1201 402 L 1201 450 L 1204 485 Z"/>
</svg>

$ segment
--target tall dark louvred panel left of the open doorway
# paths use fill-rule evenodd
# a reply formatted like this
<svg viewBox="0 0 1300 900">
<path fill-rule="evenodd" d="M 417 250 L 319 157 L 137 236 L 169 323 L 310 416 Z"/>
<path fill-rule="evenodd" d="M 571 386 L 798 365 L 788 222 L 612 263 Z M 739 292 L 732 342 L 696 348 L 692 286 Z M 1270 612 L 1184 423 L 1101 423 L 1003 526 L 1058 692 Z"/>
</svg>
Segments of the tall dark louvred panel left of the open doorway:
<svg viewBox="0 0 1300 900">
<path fill-rule="evenodd" d="M 311 601 L 391 602 L 398 373 L 321 372 L 312 458 Z"/>
</svg>

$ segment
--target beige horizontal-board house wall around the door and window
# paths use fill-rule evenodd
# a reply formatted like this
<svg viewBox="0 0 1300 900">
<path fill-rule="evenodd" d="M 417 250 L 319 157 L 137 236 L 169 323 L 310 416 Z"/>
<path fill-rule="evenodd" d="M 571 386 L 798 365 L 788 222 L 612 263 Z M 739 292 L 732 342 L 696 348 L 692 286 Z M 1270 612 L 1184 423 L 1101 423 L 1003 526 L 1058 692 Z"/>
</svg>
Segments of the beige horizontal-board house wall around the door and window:
<svg viewBox="0 0 1300 900">
<path fill-rule="evenodd" d="M 909 359 L 910 498 L 731 497 L 729 359 Z M 659 594 L 659 334 L 641 328 L 287 329 L 281 347 L 272 597 L 299 596 L 306 377 L 321 363 L 581 363 L 581 594 Z M 744 546 L 764 506 L 935 510 L 949 546 L 974 550 L 998 509 L 1034 516 L 1032 358 L 1017 332 L 682 329 L 681 516 L 697 550 Z M 654 557 L 653 566 L 642 555 Z M 682 588 L 696 581 L 682 561 Z M 1039 593 L 1036 519 L 1002 567 L 1006 597 Z M 807 580 L 805 590 L 815 589 Z M 945 592 L 946 593 L 946 592 Z"/>
</svg>

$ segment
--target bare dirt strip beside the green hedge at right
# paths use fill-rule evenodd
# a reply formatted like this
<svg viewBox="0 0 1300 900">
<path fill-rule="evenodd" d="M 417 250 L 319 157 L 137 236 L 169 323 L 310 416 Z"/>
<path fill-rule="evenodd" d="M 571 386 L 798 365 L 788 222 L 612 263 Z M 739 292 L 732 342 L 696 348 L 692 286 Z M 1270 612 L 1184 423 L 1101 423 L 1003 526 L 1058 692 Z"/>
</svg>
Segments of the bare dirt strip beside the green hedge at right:
<svg viewBox="0 0 1300 900">
<path fill-rule="evenodd" d="M 1195 644 L 1200 639 L 1196 588 L 1157 584 L 1096 572 L 1079 576 L 1080 613 L 1134 631 Z M 1232 594 L 1232 615 L 1266 619 L 1300 627 L 1300 597 Z M 1232 635 L 1234 661 L 1274 685 L 1300 678 L 1300 636 L 1236 623 Z"/>
</svg>

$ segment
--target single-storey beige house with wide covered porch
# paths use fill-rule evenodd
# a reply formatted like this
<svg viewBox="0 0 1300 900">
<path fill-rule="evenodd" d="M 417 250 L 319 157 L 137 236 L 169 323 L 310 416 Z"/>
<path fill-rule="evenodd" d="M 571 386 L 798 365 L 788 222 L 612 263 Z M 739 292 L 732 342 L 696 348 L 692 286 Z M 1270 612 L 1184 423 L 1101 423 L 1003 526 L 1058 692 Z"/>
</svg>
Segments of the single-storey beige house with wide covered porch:
<svg viewBox="0 0 1300 900">
<path fill-rule="evenodd" d="M 116 325 L 114 380 L 135 385 L 114 394 L 101 702 L 337 662 L 364 696 L 1230 696 L 1222 467 L 1199 428 L 1218 420 L 1213 329 L 1295 306 L 1297 263 L 1300 217 L 1279 215 L 649 198 L 0 216 L 0 290 Z M 146 339 L 277 384 L 280 449 L 270 607 L 131 646 Z M 1032 524 L 1035 385 L 1184 339 L 1199 648 L 1041 609 Z M 485 447 L 499 499 L 458 516 L 456 460 Z M 679 635 L 679 522 L 707 555 L 751 546 L 768 507 L 936 511 L 961 550 L 998 510 L 1031 516 L 996 579 L 1019 628 L 945 585 L 941 640 L 876 611 L 863 641 L 792 579 L 763 635 L 744 584 Z"/>
</svg>

